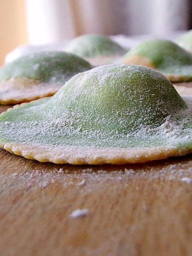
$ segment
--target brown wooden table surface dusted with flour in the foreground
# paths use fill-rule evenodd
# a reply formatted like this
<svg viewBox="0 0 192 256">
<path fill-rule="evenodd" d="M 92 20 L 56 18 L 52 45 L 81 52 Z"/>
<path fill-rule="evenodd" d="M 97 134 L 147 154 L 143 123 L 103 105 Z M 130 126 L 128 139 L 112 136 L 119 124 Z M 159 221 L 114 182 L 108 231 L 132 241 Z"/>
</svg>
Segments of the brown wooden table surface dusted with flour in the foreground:
<svg viewBox="0 0 192 256">
<path fill-rule="evenodd" d="M 1 256 L 192 255 L 192 155 L 79 167 L 0 150 L 0 193 Z"/>
</svg>

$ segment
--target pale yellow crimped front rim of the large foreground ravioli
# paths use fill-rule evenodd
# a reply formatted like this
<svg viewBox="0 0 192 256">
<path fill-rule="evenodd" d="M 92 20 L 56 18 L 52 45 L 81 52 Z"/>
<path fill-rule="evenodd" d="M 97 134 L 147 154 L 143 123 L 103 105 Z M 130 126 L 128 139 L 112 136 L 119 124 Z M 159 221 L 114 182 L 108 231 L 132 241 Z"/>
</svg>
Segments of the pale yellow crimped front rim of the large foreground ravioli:
<svg viewBox="0 0 192 256">
<path fill-rule="evenodd" d="M 192 149 L 175 147 L 113 148 L 75 147 L 39 144 L 3 143 L 0 147 L 15 155 L 39 162 L 73 165 L 121 165 L 161 160 L 167 157 L 186 155 Z"/>
</svg>

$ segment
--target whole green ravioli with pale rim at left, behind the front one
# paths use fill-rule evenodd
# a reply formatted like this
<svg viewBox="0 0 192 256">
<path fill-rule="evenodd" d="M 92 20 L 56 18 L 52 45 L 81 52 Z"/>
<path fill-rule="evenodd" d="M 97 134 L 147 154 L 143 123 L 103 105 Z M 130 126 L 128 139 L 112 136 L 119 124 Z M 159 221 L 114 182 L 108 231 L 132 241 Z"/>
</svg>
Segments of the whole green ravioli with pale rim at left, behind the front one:
<svg viewBox="0 0 192 256">
<path fill-rule="evenodd" d="M 0 68 L 0 104 L 51 96 L 72 76 L 90 68 L 82 58 L 59 51 L 20 57 Z"/>
</svg>

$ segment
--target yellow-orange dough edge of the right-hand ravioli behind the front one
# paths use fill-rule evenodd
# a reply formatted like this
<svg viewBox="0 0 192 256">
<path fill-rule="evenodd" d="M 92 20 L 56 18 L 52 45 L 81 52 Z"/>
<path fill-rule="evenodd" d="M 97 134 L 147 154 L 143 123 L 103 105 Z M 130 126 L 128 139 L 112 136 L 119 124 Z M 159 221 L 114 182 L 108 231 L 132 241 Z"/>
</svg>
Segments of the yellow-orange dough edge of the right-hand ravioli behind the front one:
<svg viewBox="0 0 192 256">
<path fill-rule="evenodd" d="M 153 68 L 157 71 L 159 71 L 151 62 L 151 60 L 147 57 L 144 56 L 140 56 L 140 55 L 132 55 L 129 57 L 125 57 L 122 61 L 122 63 L 124 64 L 130 64 L 130 65 L 141 65 L 141 66 L 146 66 L 149 68 Z M 167 74 L 167 73 L 163 73 L 161 71 L 159 71 L 160 73 L 162 73 L 164 76 L 167 77 L 167 79 L 169 79 L 172 82 L 184 82 L 187 81 L 184 77 L 182 77 L 179 74 Z M 188 81 L 191 81 L 191 79 L 189 79 Z"/>
</svg>

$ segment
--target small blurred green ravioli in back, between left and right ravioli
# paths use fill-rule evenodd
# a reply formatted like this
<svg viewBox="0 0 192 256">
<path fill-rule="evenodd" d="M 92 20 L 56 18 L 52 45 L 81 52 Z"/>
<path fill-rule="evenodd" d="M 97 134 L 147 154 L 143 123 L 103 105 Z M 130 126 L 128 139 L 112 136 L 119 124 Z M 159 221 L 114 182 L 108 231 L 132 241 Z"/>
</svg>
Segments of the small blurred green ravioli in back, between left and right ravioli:
<svg viewBox="0 0 192 256">
<path fill-rule="evenodd" d="M 126 53 L 126 49 L 104 35 L 86 34 L 75 38 L 66 51 L 87 58 L 93 65 L 108 64 Z"/>
</svg>

